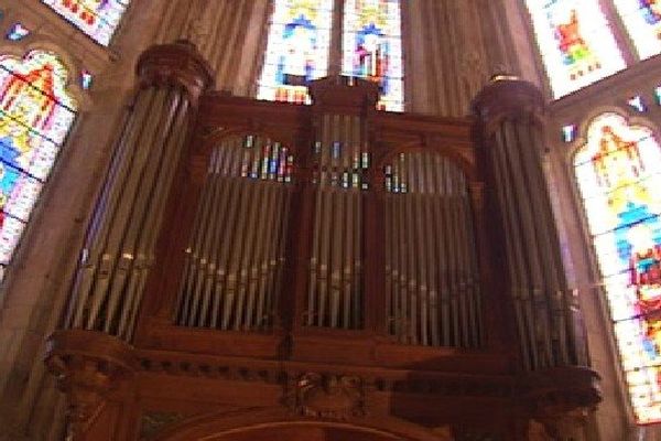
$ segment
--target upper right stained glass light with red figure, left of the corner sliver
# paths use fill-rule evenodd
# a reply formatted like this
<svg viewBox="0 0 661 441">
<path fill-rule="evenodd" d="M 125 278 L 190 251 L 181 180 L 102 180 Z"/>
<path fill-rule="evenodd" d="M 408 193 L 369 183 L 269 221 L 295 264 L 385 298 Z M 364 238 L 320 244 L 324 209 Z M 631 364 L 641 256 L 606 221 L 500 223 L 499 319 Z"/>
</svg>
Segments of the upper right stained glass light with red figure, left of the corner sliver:
<svg viewBox="0 0 661 441">
<path fill-rule="evenodd" d="M 626 67 L 598 0 L 525 0 L 553 96 Z"/>
</svg>

